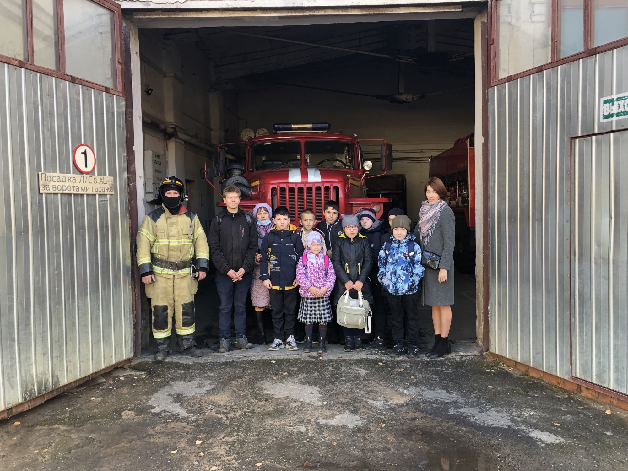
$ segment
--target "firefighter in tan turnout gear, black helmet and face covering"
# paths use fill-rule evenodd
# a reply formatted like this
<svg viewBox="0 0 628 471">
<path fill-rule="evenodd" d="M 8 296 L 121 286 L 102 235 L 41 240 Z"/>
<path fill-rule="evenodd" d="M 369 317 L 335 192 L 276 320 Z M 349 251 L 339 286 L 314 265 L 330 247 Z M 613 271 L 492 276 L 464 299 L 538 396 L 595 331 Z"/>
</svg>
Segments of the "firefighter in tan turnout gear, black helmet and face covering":
<svg viewBox="0 0 628 471">
<path fill-rule="evenodd" d="M 207 275 L 209 247 L 197 215 L 183 205 L 183 191 L 183 182 L 176 176 L 165 178 L 153 200 L 160 207 L 144 216 L 138 230 L 139 273 L 152 301 L 157 361 L 165 360 L 170 352 L 173 315 L 181 352 L 203 355 L 194 340 L 194 295 L 198 281 Z"/>
</svg>

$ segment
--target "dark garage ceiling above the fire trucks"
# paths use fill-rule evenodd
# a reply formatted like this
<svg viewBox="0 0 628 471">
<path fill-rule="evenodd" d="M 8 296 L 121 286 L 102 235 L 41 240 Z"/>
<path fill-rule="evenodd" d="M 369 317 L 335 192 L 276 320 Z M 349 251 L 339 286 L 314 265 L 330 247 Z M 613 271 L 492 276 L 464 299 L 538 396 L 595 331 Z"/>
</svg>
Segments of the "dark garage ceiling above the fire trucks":
<svg viewBox="0 0 628 471">
<path fill-rule="evenodd" d="M 424 73 L 468 75 L 473 70 L 474 30 L 470 19 L 152 31 L 175 44 L 196 43 L 214 64 L 214 85 L 243 77 L 268 78 L 268 73 L 313 64 L 318 68 L 338 58 L 364 61 L 389 56 L 383 60 L 394 67 L 402 58 Z"/>
</svg>

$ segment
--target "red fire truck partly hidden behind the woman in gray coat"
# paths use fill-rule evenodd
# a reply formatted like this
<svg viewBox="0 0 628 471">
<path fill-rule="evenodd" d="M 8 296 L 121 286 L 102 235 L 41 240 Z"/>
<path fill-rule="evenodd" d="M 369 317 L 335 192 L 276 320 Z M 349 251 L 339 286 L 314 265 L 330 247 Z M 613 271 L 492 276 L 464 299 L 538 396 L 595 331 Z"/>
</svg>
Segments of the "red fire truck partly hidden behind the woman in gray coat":
<svg viewBox="0 0 628 471">
<path fill-rule="evenodd" d="M 430 176 L 438 176 L 449 192 L 456 216 L 453 262 L 460 273 L 475 273 L 475 147 L 474 135 L 460 138 L 451 149 L 430 160 Z"/>
</svg>

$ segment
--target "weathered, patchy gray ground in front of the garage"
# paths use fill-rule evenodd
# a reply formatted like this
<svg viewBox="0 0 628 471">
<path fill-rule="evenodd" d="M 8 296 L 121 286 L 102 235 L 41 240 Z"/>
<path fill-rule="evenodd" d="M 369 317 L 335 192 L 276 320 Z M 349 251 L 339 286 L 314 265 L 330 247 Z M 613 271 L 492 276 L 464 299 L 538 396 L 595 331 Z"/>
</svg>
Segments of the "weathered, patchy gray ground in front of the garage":
<svg viewBox="0 0 628 471">
<path fill-rule="evenodd" d="M 0 423 L 3 470 L 625 470 L 628 413 L 487 362 L 149 357 Z M 202 443 L 197 441 L 202 440 Z"/>
</svg>

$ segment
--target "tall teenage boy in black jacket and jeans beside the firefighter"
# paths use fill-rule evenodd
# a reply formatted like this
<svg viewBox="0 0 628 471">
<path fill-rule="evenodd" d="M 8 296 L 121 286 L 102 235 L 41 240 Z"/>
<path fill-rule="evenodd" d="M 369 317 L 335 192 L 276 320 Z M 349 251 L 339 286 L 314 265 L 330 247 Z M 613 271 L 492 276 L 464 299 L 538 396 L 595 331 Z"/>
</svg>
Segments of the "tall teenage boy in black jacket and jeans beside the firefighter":
<svg viewBox="0 0 628 471">
<path fill-rule="evenodd" d="M 251 287 L 251 270 L 257 252 L 257 229 L 253 215 L 239 208 L 240 188 L 228 185 L 222 192 L 226 207 L 209 227 L 209 254 L 216 267 L 220 297 L 220 353 L 229 352 L 231 308 L 235 304 L 236 346 L 250 349 L 246 338 L 246 295 Z"/>
</svg>

